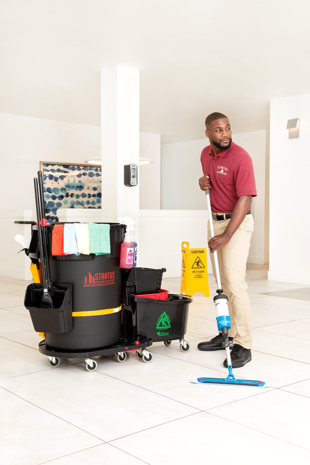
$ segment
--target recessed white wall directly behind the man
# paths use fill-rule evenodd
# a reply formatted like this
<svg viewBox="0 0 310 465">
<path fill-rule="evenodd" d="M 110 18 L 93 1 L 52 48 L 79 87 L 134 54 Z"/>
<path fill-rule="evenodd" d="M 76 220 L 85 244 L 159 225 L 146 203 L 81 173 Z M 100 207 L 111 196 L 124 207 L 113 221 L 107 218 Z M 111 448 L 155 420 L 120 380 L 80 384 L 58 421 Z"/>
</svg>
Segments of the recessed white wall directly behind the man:
<svg viewBox="0 0 310 465">
<path fill-rule="evenodd" d="M 257 186 L 257 197 L 252 203 L 255 229 L 248 263 L 268 263 L 268 245 L 265 245 L 266 131 L 233 134 L 232 139 L 250 154 Z M 206 209 L 205 195 L 198 186 L 198 179 L 203 174 L 201 151 L 207 145 L 205 138 L 161 146 L 161 208 Z"/>
</svg>

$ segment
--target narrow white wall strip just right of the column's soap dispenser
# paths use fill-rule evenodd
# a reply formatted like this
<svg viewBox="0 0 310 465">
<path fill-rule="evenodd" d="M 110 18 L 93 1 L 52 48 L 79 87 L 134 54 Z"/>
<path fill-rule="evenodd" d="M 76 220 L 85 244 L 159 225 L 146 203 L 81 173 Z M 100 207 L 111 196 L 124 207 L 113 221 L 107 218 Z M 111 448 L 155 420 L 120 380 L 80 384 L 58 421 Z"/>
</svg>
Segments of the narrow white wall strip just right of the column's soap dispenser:
<svg viewBox="0 0 310 465">
<path fill-rule="evenodd" d="M 140 133 L 140 156 L 154 163 L 139 166 L 140 209 L 160 209 L 160 134 Z"/>
</svg>

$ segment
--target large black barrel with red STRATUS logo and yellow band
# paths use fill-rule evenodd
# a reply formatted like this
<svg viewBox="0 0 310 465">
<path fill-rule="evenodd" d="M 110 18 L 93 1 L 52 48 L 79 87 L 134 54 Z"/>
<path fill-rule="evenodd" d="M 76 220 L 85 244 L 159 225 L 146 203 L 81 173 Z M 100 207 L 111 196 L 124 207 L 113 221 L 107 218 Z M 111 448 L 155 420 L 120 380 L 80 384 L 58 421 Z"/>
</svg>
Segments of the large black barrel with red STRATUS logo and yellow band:
<svg viewBox="0 0 310 465">
<path fill-rule="evenodd" d="M 86 351 L 116 344 L 121 332 L 120 244 L 124 225 L 110 223 L 109 255 L 52 257 L 52 227 L 48 233 L 51 279 L 72 286 L 73 328 L 66 334 L 46 331 L 46 345 L 69 351 Z"/>
</svg>

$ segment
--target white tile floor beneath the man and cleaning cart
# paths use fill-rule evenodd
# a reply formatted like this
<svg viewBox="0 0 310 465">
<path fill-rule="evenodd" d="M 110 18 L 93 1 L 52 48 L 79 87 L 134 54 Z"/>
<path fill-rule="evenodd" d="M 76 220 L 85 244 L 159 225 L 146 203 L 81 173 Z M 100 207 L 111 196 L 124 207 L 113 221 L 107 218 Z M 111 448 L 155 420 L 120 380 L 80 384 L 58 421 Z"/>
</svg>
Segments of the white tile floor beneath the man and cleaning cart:
<svg viewBox="0 0 310 465">
<path fill-rule="evenodd" d="M 189 382 L 226 376 L 224 352 L 197 349 L 217 333 L 212 276 L 211 297 L 190 306 L 189 352 L 156 343 L 150 364 L 112 356 L 92 373 L 80 359 L 47 365 L 23 306 L 27 283 L 0 278 L 0 464 L 310 463 L 310 301 L 263 294 L 307 286 L 251 268 L 252 361 L 234 374 L 268 379 L 262 390 Z M 162 286 L 179 293 L 179 283 Z"/>
</svg>

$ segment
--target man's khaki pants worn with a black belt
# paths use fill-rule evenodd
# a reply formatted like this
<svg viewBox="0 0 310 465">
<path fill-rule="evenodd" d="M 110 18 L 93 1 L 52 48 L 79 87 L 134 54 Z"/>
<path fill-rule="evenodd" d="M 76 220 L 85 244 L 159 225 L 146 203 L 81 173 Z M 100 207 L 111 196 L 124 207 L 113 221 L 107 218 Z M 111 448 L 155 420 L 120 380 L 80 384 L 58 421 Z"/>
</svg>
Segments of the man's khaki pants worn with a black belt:
<svg viewBox="0 0 310 465">
<path fill-rule="evenodd" d="M 219 213 L 221 214 L 221 213 Z M 212 219 L 214 235 L 224 233 L 230 219 L 216 221 Z M 245 349 L 252 346 L 251 307 L 248 296 L 248 285 L 245 282 L 246 260 L 249 255 L 250 239 L 254 230 L 252 214 L 246 215 L 229 243 L 217 250 L 218 267 L 224 294 L 228 296 L 228 309 L 231 317 L 229 336 L 234 344 L 240 344 Z M 208 223 L 208 242 L 211 239 Z M 214 277 L 214 254 L 211 253 L 211 263 Z"/>
</svg>

